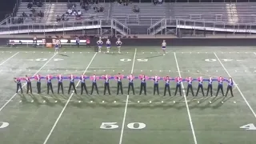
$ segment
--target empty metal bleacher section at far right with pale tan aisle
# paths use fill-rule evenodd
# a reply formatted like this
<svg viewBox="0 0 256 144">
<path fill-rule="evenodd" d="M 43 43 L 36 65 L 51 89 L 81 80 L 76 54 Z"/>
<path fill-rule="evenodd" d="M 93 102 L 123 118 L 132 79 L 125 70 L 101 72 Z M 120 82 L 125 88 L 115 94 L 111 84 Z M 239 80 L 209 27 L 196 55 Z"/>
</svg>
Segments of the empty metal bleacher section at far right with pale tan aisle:
<svg viewBox="0 0 256 144">
<path fill-rule="evenodd" d="M 256 3 L 254 2 L 190 2 L 172 3 L 170 17 L 214 22 L 255 22 Z"/>
</svg>

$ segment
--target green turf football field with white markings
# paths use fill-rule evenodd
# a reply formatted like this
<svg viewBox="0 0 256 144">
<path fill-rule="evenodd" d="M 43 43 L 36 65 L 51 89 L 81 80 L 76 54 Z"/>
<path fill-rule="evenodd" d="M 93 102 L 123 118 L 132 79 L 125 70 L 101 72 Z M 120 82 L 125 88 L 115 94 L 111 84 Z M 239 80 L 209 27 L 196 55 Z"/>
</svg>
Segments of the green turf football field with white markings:
<svg viewBox="0 0 256 144">
<path fill-rule="evenodd" d="M 104 51 L 105 49 L 103 49 Z M 0 139 L 2 144 L 254 144 L 256 143 L 256 66 L 253 47 L 169 47 L 162 55 L 157 47 L 116 48 L 110 54 L 95 53 L 83 48 L 0 49 Z M 112 53 L 114 52 L 114 53 Z M 67 94 L 69 82 L 64 82 L 65 94 L 15 94 L 14 77 L 34 74 L 128 75 L 146 74 L 183 78 L 203 76 L 232 77 L 234 98 L 174 97 L 153 95 L 153 82 L 147 82 L 147 95 L 139 96 L 140 82 L 134 82 L 135 95 L 116 95 L 117 82 L 111 80 L 111 95 L 103 95 L 103 82 L 98 81 L 99 95 Z M 91 90 L 91 82 L 86 81 Z M 194 82 L 194 93 L 198 82 Z M 205 89 L 207 84 L 205 83 Z M 24 85 L 23 91 L 26 91 Z M 214 84 L 214 95 L 217 84 Z M 205 90 L 206 93 L 206 90 Z M 224 86 L 226 93 L 226 84 Z"/>
</svg>

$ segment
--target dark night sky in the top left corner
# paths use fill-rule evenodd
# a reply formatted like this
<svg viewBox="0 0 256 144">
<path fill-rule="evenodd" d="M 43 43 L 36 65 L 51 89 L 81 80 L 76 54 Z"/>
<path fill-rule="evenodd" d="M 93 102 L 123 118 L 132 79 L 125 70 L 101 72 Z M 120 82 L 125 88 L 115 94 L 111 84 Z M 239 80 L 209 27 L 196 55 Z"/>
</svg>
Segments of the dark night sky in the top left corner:
<svg viewBox="0 0 256 144">
<path fill-rule="evenodd" d="M 6 14 L 10 14 L 14 9 L 17 0 L 0 0 L 0 18 L 4 18 Z M 0 20 L 0 21 L 1 21 Z"/>
</svg>

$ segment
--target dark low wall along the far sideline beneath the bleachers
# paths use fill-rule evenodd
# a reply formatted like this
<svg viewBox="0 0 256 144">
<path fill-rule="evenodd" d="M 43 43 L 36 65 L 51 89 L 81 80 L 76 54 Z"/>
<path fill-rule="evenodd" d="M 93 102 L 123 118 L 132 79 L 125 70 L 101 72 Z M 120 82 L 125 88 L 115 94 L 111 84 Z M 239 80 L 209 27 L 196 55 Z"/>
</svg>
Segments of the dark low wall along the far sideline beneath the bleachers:
<svg viewBox="0 0 256 144">
<path fill-rule="evenodd" d="M 167 42 L 167 46 L 256 46 L 254 38 L 164 38 Z M 6 43 L 10 40 L 15 42 L 22 41 L 23 45 L 27 45 L 26 40 L 32 41 L 32 38 L 0 38 L 0 45 L 6 46 Z M 42 40 L 38 38 L 38 41 Z M 62 45 L 69 46 L 75 45 L 74 39 L 65 38 L 62 39 Z M 73 42 L 71 42 L 71 40 Z M 161 46 L 163 38 L 122 38 L 123 46 Z M 81 39 L 82 41 L 82 39 Z M 96 42 L 98 38 L 90 39 L 91 46 Z M 106 39 L 102 39 L 106 42 Z M 110 39 L 113 45 L 117 41 L 117 38 Z M 48 39 L 49 42 L 49 39 Z M 81 42 L 81 44 L 83 44 Z"/>
</svg>

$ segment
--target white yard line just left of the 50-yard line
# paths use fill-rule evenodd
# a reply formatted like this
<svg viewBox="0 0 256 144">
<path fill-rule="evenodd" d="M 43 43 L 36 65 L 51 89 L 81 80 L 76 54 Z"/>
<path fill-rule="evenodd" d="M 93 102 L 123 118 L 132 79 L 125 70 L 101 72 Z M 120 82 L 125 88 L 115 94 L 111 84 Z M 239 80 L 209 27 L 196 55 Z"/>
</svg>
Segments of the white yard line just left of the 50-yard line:
<svg viewBox="0 0 256 144">
<path fill-rule="evenodd" d="M 86 70 L 83 72 L 83 74 L 86 74 L 86 71 L 87 71 L 88 68 L 90 67 L 91 62 L 94 61 L 94 58 L 95 58 L 95 56 L 96 56 L 97 54 L 98 54 L 98 53 L 95 53 L 95 54 L 94 54 L 94 57 L 91 58 L 90 63 L 89 63 L 88 66 L 86 67 Z M 75 87 L 78 87 L 78 85 L 79 85 L 80 82 L 81 82 L 81 80 L 78 81 L 78 83 L 77 83 L 77 85 L 76 85 Z M 43 142 L 43 144 L 46 144 L 46 142 L 48 142 L 48 140 L 49 140 L 49 138 L 50 138 L 50 135 L 54 132 L 54 128 L 57 126 L 59 119 L 62 117 L 62 114 L 63 114 L 64 111 L 66 110 L 66 106 L 69 104 L 69 102 L 70 102 L 71 98 L 73 97 L 73 95 L 74 95 L 74 90 L 73 90 L 72 94 L 70 94 L 70 98 L 66 101 L 66 104 L 65 104 L 65 106 L 64 106 L 63 109 L 62 109 L 62 112 L 58 115 L 58 118 L 56 119 L 56 122 L 54 122 L 54 126 L 51 128 L 50 133 L 47 135 L 46 140 L 45 140 L 45 142 Z"/>
</svg>

